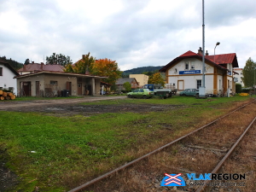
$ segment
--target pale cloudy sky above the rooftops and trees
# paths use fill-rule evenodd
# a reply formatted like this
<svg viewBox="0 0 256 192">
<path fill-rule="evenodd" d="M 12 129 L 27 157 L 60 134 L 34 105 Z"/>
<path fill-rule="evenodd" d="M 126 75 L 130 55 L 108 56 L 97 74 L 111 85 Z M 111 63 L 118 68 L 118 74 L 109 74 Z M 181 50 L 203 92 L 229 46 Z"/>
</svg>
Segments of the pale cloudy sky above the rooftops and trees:
<svg viewBox="0 0 256 192">
<path fill-rule="evenodd" d="M 0 56 L 73 62 L 88 54 L 120 70 L 165 66 L 202 47 L 202 0 L 0 0 Z M 205 0 L 205 50 L 256 61 L 256 1 Z"/>
</svg>

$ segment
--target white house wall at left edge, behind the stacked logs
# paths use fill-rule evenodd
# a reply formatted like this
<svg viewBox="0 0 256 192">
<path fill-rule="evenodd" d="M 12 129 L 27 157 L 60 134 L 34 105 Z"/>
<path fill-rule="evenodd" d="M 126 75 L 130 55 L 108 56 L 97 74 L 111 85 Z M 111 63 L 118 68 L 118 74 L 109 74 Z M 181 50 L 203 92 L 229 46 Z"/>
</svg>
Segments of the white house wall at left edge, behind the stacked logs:
<svg viewBox="0 0 256 192">
<path fill-rule="evenodd" d="M 9 87 L 13 87 L 13 91 L 17 94 L 17 82 L 14 77 L 16 76 L 9 67 L 5 67 L 3 63 L 0 63 L 0 67 L 3 68 L 3 75 L 0 76 L 0 88 L 3 90 L 9 90 Z"/>
</svg>

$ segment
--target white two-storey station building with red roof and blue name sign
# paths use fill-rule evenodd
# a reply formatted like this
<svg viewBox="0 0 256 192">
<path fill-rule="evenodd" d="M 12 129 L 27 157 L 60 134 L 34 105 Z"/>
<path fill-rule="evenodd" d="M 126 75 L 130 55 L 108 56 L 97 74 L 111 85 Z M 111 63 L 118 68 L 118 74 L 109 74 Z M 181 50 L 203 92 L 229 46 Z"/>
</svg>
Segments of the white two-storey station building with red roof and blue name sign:
<svg viewBox="0 0 256 192">
<path fill-rule="evenodd" d="M 206 94 L 227 96 L 236 92 L 234 82 L 234 67 L 238 67 L 236 53 L 205 56 L 205 84 Z M 166 73 L 166 83 L 174 84 L 178 91 L 185 89 L 199 89 L 202 85 L 202 50 L 198 53 L 187 51 L 178 56 L 160 72 Z"/>
</svg>

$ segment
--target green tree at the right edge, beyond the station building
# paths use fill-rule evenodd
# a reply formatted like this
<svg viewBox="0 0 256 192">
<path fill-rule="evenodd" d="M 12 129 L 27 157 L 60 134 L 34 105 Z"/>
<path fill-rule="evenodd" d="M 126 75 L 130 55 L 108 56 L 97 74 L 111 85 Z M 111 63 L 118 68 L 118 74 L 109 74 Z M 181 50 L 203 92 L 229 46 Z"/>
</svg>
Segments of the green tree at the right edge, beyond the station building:
<svg viewBox="0 0 256 192">
<path fill-rule="evenodd" d="M 242 70 L 243 77 L 241 78 L 245 87 L 253 87 L 255 84 L 255 70 L 256 64 L 253 62 L 251 57 L 247 60 L 246 66 Z"/>
</svg>

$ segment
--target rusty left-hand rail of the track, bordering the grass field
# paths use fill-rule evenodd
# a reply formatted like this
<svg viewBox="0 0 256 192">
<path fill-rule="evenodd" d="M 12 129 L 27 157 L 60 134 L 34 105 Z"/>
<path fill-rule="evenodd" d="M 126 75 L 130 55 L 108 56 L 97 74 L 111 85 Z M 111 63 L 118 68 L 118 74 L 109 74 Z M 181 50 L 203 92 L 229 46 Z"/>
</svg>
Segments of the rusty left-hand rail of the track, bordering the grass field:
<svg viewBox="0 0 256 192">
<path fill-rule="evenodd" d="M 255 100 L 254 100 L 253 102 L 255 102 Z M 85 189 L 85 188 L 89 187 L 91 184 L 96 183 L 96 182 L 99 182 L 99 181 L 101 181 L 103 178 L 108 177 L 108 176 L 112 175 L 112 174 L 115 173 L 115 172 L 119 172 L 120 170 L 123 170 L 123 169 L 125 169 L 126 167 L 129 167 L 129 166 L 131 166 L 131 165 L 137 163 L 137 162 L 140 161 L 140 160 L 146 159 L 148 156 L 150 156 L 150 155 L 152 155 L 152 154 L 156 154 L 157 152 L 159 152 L 159 151 L 162 150 L 163 148 L 167 148 L 167 147 L 169 147 L 170 145 L 172 145 L 172 144 L 174 144 L 174 143 L 177 143 L 177 142 L 183 140 L 183 138 L 189 137 L 190 135 L 194 134 L 194 133 L 197 132 L 197 131 L 201 131 L 201 130 L 204 129 L 205 127 L 214 124 L 215 122 L 217 122 L 217 121 L 220 120 L 220 119 L 224 119 L 226 116 L 230 115 L 231 113 L 234 113 L 234 112 L 236 112 L 237 110 L 239 110 L 239 109 L 241 109 L 241 108 L 244 108 L 244 107 L 246 107 L 248 104 L 251 104 L 251 103 L 252 103 L 252 102 L 248 102 L 247 104 L 241 106 L 240 108 L 236 108 L 234 111 L 231 111 L 230 113 L 227 113 L 227 114 L 225 114 L 224 116 L 222 116 L 222 117 L 220 117 L 220 118 L 218 118 L 218 119 L 213 120 L 212 122 L 208 123 L 207 125 L 203 125 L 203 126 L 201 126 L 200 128 L 196 129 L 195 131 L 191 131 L 191 132 L 189 132 L 188 134 L 184 135 L 183 137 L 177 138 L 176 140 L 172 141 L 171 143 L 167 143 L 166 145 L 164 145 L 164 146 L 162 146 L 162 147 L 160 147 L 160 148 L 157 148 L 157 149 L 155 149 L 154 151 L 152 151 L 152 152 L 150 152 L 150 153 L 148 153 L 148 154 L 144 154 L 143 156 L 137 158 L 136 160 L 132 160 L 131 162 L 126 163 L 124 166 L 119 166 L 118 168 L 114 169 L 113 171 L 107 172 L 107 173 L 105 173 L 104 175 L 102 175 L 102 176 L 100 176 L 100 177 L 96 177 L 96 178 L 90 180 L 89 182 L 80 185 L 80 186 L 77 187 L 77 188 L 74 188 L 74 189 L 69 190 L 68 192 L 78 192 L 78 191 L 80 191 L 80 190 L 82 190 L 82 189 Z"/>
</svg>

